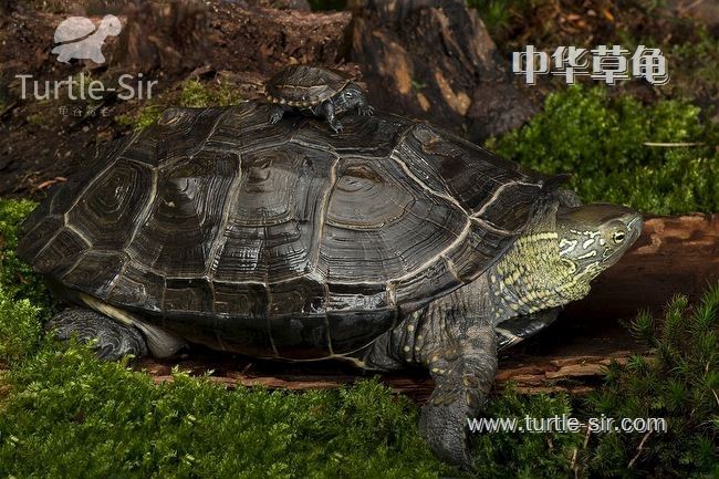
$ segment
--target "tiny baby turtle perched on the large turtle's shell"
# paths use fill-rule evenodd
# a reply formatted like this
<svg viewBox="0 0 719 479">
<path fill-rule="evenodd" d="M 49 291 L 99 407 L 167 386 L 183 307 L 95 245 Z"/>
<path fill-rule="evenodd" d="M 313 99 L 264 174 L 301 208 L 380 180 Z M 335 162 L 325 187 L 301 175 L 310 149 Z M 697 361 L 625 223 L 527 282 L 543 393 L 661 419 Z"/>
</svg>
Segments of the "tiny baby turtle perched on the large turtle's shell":
<svg viewBox="0 0 719 479">
<path fill-rule="evenodd" d="M 265 86 L 267 100 L 274 104 L 270 123 L 278 123 L 285 112 L 299 111 L 308 116 L 324 117 L 332 129 L 342 131 L 336 116 L 357 108 L 372 115 L 365 92 L 350 76 L 322 66 L 293 65 L 278 72 Z"/>
</svg>

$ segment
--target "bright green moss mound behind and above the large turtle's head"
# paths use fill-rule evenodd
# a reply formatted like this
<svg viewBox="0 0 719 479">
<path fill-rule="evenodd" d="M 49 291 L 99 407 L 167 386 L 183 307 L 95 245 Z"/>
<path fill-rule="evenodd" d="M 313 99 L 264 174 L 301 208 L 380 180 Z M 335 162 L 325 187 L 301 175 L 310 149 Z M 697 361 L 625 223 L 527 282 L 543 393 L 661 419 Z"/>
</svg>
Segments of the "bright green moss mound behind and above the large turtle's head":
<svg viewBox="0 0 719 479">
<path fill-rule="evenodd" d="M 644 105 L 575 86 L 550 94 L 529 124 L 487 146 L 540 171 L 572 173 L 570 186 L 586 201 L 669 215 L 719 210 L 718 138 L 689 103 Z"/>
</svg>

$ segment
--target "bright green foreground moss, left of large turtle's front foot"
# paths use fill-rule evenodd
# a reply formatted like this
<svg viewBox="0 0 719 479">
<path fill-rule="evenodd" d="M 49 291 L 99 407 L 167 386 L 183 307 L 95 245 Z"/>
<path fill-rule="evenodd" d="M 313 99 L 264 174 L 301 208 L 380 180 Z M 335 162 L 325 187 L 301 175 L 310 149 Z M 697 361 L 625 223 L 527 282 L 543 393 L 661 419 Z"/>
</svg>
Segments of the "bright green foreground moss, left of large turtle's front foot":
<svg viewBox="0 0 719 479">
<path fill-rule="evenodd" d="M 450 470 L 419 438 L 414 407 L 374 382 L 340 392 L 228 392 L 176 373 L 156 386 L 84 348 L 55 348 L 11 375 L 24 391 L 0 417 L 2 477 L 435 478 Z"/>
</svg>

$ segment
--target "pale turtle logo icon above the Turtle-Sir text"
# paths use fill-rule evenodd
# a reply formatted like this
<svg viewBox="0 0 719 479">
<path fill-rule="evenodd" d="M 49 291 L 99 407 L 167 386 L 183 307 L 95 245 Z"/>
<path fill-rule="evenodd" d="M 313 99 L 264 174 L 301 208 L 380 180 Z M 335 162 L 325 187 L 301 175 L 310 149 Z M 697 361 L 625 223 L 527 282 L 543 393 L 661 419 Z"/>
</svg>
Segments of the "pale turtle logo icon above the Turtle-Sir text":
<svg viewBox="0 0 719 479">
<path fill-rule="evenodd" d="M 54 39 L 56 46 L 52 53 L 63 63 L 70 63 L 72 59 L 105 63 L 103 43 L 107 37 L 119 34 L 121 30 L 122 24 L 115 15 L 105 15 L 100 25 L 85 17 L 71 17 L 58 25 Z"/>
</svg>

